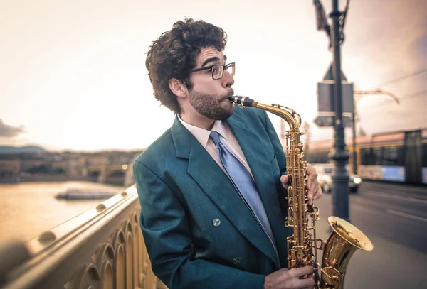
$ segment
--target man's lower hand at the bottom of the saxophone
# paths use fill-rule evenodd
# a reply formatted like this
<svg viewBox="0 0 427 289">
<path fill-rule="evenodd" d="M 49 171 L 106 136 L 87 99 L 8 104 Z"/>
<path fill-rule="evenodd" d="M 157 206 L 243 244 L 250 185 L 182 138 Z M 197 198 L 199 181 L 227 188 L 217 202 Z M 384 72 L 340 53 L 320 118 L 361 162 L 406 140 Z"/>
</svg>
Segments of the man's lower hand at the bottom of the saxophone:
<svg viewBox="0 0 427 289">
<path fill-rule="evenodd" d="M 307 279 L 300 279 L 300 276 L 308 274 Z M 314 288 L 315 278 L 313 267 L 305 266 L 296 269 L 280 269 L 268 276 L 265 276 L 264 289 L 300 289 Z"/>
</svg>

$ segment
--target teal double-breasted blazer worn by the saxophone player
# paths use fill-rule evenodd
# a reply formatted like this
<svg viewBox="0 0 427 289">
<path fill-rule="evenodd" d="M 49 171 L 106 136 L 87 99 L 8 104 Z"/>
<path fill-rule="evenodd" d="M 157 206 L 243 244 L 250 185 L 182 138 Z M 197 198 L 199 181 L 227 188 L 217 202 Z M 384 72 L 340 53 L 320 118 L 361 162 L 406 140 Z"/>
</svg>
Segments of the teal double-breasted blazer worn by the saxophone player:
<svg viewBox="0 0 427 289">
<path fill-rule="evenodd" d="M 255 178 L 280 261 L 226 174 L 176 118 L 133 165 L 152 270 L 169 289 L 262 289 L 266 275 L 287 266 L 279 138 L 261 109 L 236 107 L 227 122 Z"/>
</svg>

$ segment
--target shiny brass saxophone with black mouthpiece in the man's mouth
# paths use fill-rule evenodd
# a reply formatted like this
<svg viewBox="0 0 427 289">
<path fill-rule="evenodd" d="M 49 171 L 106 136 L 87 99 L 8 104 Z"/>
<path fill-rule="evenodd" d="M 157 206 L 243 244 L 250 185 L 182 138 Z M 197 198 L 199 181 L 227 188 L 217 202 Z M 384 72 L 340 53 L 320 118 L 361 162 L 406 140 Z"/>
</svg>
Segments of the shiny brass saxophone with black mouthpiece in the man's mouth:
<svg viewBox="0 0 427 289">
<path fill-rule="evenodd" d="M 304 160 L 300 136 L 301 117 L 294 110 L 280 104 L 260 104 L 248 97 L 232 96 L 228 100 L 241 107 L 258 107 L 285 119 L 290 126 L 286 133 L 286 170 L 289 176 L 288 217 L 285 227 L 290 227 L 288 236 L 288 269 L 302 266 L 315 268 L 315 288 L 342 289 L 350 257 L 357 249 L 371 251 L 374 246 L 362 231 L 338 217 L 327 220 L 332 233 L 327 241 L 316 238 L 316 220 L 319 209 L 307 204 L 307 162 Z M 319 246 L 317 246 L 319 244 Z M 317 250 L 322 250 L 322 265 L 318 262 Z M 304 276 L 307 278 L 307 276 Z"/>
</svg>

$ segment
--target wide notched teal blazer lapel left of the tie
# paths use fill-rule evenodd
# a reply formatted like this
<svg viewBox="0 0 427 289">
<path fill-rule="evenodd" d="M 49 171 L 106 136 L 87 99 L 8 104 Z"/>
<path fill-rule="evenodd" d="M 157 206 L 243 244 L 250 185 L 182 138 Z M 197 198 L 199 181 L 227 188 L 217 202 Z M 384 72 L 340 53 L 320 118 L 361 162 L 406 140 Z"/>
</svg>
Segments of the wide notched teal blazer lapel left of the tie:
<svg viewBox="0 0 427 289">
<path fill-rule="evenodd" d="M 176 156 L 189 160 L 187 172 L 230 222 L 255 247 L 277 264 L 273 247 L 227 175 L 199 141 L 175 119 L 172 138 Z M 209 171 L 206 172 L 206 168 Z"/>
</svg>

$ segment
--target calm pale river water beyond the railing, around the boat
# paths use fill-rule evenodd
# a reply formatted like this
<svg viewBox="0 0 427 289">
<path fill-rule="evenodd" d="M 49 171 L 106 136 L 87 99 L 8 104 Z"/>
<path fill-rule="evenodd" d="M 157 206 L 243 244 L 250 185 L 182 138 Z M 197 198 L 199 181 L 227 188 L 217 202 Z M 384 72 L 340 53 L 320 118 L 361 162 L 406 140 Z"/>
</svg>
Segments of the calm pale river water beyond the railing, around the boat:
<svg viewBox="0 0 427 289">
<path fill-rule="evenodd" d="M 23 182 L 0 184 L 0 240 L 28 241 L 95 207 L 106 199 L 56 199 L 68 188 L 122 192 L 125 187 L 96 182 Z"/>
</svg>

